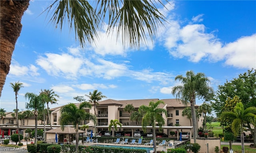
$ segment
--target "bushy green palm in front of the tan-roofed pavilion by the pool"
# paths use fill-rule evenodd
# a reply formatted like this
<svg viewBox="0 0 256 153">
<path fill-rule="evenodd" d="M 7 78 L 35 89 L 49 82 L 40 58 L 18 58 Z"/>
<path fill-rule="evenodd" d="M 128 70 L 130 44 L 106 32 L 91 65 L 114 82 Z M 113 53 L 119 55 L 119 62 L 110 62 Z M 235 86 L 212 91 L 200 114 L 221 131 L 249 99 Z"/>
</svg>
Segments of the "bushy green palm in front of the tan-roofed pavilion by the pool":
<svg viewBox="0 0 256 153">
<path fill-rule="evenodd" d="M 84 109 L 92 108 L 92 105 L 89 102 L 82 102 L 77 107 L 75 104 L 70 103 L 65 106 L 62 106 L 60 109 L 60 126 L 61 129 L 64 130 L 64 127 L 68 125 L 68 123 L 72 122 L 74 127 L 76 128 L 76 153 L 78 153 L 78 126 L 83 120 L 95 120 L 95 116 L 93 114 L 87 113 Z"/>
</svg>

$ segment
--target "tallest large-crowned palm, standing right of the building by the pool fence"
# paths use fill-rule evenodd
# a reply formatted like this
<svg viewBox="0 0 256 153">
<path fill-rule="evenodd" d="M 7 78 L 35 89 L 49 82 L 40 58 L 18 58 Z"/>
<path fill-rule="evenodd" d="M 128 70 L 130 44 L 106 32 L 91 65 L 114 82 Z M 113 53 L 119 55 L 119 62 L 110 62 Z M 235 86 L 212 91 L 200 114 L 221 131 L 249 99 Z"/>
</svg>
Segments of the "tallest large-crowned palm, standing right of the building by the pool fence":
<svg viewBox="0 0 256 153">
<path fill-rule="evenodd" d="M 184 106 L 188 106 L 190 103 L 192 124 L 193 124 L 193 139 L 196 143 L 197 133 L 197 120 L 196 120 L 196 98 L 210 99 L 213 94 L 213 89 L 208 86 L 210 80 L 204 75 L 204 73 L 194 74 L 193 71 L 186 72 L 186 77 L 178 75 L 175 80 L 180 80 L 182 85 L 174 86 L 172 88 L 172 94 L 181 98 Z"/>
</svg>

